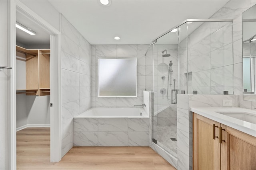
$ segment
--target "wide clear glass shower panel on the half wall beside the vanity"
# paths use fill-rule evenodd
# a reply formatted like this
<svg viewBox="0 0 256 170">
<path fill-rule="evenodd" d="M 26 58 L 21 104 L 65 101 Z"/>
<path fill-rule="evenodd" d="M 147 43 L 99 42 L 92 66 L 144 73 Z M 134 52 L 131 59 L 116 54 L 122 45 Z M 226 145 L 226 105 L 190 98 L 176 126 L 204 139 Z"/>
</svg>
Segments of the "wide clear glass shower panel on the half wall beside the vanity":
<svg viewBox="0 0 256 170">
<path fill-rule="evenodd" d="M 232 22 L 188 22 L 188 94 L 233 94 Z"/>
</svg>

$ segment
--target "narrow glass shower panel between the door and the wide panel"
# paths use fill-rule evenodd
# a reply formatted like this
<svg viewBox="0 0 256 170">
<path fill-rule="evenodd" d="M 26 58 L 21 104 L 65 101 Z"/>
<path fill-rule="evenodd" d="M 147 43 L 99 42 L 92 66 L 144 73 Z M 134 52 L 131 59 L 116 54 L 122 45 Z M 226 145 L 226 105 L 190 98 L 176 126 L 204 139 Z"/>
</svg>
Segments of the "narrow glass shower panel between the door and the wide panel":
<svg viewBox="0 0 256 170">
<path fill-rule="evenodd" d="M 191 73 L 188 72 L 187 52 L 187 22 L 178 27 L 178 56 L 179 56 L 179 94 L 188 94 L 188 84 L 191 83 Z"/>
</svg>

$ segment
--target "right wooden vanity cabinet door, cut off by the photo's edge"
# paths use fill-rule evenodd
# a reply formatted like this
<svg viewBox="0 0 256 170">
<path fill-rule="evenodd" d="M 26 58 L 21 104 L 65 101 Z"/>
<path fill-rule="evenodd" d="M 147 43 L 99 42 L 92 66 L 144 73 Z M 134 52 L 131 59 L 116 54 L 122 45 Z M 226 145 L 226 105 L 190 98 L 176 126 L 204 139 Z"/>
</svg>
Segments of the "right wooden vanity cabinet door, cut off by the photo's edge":
<svg viewBox="0 0 256 170">
<path fill-rule="evenodd" d="M 228 170 L 256 170 L 256 138 L 227 127 Z"/>
</svg>

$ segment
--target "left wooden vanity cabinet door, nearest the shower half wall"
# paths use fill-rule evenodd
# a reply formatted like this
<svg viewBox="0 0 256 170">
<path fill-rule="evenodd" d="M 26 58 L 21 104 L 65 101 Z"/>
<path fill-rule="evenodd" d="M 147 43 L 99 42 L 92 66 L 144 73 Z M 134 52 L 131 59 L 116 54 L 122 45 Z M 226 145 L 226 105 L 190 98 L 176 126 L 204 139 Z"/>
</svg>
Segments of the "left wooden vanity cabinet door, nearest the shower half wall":
<svg viewBox="0 0 256 170">
<path fill-rule="evenodd" d="M 214 128 L 215 124 L 215 128 Z M 193 169 L 220 170 L 220 123 L 193 115 Z M 214 134 L 215 129 L 215 134 Z M 215 136 L 215 139 L 214 139 Z"/>
</svg>

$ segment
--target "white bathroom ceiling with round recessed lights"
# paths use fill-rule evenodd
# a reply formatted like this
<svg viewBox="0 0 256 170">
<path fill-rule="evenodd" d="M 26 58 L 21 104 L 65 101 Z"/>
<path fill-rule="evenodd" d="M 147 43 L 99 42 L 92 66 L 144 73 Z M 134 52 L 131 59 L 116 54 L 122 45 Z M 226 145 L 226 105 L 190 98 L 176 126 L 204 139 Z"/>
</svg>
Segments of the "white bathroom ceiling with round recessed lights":
<svg viewBox="0 0 256 170">
<path fill-rule="evenodd" d="M 150 44 L 186 19 L 208 19 L 228 0 L 49 0 L 90 44 Z M 120 40 L 114 40 L 120 36 Z"/>
</svg>

